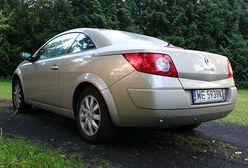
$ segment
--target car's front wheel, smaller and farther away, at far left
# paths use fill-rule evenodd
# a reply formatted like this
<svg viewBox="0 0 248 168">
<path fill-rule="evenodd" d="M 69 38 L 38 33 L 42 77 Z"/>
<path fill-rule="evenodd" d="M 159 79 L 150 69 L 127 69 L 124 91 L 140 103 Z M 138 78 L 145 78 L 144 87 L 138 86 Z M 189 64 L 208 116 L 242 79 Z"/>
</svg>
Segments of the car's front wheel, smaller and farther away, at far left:
<svg viewBox="0 0 248 168">
<path fill-rule="evenodd" d="M 24 100 L 22 84 L 20 80 L 16 79 L 13 82 L 12 87 L 12 103 L 15 110 L 15 113 L 27 112 L 31 109 L 31 105 L 26 104 Z"/>
</svg>

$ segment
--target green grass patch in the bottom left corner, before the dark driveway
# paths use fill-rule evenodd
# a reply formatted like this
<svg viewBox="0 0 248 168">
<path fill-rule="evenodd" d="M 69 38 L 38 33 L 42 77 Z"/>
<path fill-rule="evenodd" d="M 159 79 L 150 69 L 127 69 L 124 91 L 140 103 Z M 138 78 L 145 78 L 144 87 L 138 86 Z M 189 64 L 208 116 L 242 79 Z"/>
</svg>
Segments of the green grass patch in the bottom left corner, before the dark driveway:
<svg viewBox="0 0 248 168">
<path fill-rule="evenodd" d="M 21 139 L 0 138 L 0 168 L 5 167 L 88 167 L 86 163 Z"/>
</svg>

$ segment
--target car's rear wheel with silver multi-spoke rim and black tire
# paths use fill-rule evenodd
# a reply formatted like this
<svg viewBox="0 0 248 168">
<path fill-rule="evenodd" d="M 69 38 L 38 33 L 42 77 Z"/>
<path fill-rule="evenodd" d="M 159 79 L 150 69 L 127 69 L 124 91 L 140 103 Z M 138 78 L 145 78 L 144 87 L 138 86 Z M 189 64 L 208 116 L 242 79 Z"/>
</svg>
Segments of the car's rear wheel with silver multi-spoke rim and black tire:
<svg viewBox="0 0 248 168">
<path fill-rule="evenodd" d="M 107 105 L 100 92 L 93 87 L 80 94 L 75 119 L 81 136 L 90 143 L 106 143 L 116 136 Z"/>
</svg>

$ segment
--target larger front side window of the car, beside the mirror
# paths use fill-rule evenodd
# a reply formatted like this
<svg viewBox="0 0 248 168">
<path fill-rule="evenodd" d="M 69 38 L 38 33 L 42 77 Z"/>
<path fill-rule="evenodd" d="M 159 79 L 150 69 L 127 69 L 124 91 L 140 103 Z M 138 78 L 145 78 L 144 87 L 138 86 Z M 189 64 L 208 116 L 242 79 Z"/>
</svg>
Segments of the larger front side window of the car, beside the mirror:
<svg viewBox="0 0 248 168">
<path fill-rule="evenodd" d="M 47 59 L 66 54 L 77 36 L 78 33 L 70 33 L 53 39 L 39 51 L 38 57 Z"/>
</svg>

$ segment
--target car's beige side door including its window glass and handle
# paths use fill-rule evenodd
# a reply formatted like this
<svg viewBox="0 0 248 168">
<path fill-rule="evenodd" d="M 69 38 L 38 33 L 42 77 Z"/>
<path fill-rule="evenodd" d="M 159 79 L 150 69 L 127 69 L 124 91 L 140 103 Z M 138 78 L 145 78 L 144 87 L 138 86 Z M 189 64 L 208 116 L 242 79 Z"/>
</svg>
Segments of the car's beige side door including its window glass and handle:
<svg viewBox="0 0 248 168">
<path fill-rule="evenodd" d="M 29 101 L 58 105 L 60 56 L 67 54 L 77 36 L 69 33 L 50 40 L 35 55 L 38 60 L 27 65 L 23 78 Z"/>
</svg>

